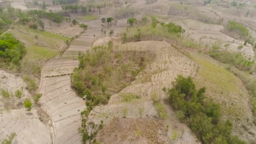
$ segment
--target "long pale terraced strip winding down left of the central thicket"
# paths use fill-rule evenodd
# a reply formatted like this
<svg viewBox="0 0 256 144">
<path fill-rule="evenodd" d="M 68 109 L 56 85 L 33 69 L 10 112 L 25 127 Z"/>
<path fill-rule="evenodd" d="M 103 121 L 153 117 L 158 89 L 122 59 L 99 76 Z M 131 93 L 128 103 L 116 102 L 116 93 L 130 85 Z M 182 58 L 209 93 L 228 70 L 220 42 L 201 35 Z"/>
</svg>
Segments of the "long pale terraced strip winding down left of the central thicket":
<svg viewBox="0 0 256 144">
<path fill-rule="evenodd" d="M 96 20 L 77 19 L 80 24 L 87 24 L 88 29 L 72 41 L 69 48 L 61 55 L 49 61 L 43 67 L 40 99 L 43 109 L 51 115 L 55 130 L 55 144 L 79 144 L 81 125 L 80 112 L 85 109 L 85 101 L 79 98 L 71 88 L 70 74 L 77 67 L 78 52 L 91 49 L 93 42 L 101 37 L 101 18 L 112 15 L 104 14 Z"/>
</svg>

